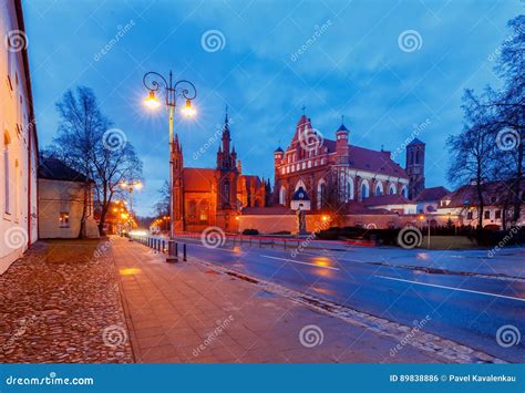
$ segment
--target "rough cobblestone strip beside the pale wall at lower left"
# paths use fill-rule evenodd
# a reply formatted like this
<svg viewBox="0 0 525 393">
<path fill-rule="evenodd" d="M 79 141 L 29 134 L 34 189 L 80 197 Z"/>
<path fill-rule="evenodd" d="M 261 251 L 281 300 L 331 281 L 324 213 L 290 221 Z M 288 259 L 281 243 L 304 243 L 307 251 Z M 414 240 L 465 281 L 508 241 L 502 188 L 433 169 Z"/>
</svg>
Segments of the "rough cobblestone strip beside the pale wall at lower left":
<svg viewBox="0 0 525 393">
<path fill-rule="evenodd" d="M 0 276 L 0 363 L 133 362 L 109 246 L 39 241 Z"/>
</svg>

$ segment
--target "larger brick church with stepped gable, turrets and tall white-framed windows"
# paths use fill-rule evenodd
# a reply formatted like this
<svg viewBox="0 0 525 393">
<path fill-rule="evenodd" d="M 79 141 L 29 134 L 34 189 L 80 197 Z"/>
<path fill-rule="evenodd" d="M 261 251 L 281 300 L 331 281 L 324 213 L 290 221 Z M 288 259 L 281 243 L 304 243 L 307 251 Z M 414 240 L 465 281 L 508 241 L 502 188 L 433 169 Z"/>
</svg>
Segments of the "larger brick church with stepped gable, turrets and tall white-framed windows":
<svg viewBox="0 0 525 393">
<path fill-rule="evenodd" d="M 302 115 L 290 145 L 274 153 L 274 201 L 296 209 L 322 210 L 342 203 L 344 211 L 404 205 L 424 189 L 424 149 L 419 139 L 406 146 L 406 168 L 388 151 L 356 146 L 343 122 L 336 139 L 323 138 Z M 403 211 L 400 211 L 403 213 Z"/>
</svg>

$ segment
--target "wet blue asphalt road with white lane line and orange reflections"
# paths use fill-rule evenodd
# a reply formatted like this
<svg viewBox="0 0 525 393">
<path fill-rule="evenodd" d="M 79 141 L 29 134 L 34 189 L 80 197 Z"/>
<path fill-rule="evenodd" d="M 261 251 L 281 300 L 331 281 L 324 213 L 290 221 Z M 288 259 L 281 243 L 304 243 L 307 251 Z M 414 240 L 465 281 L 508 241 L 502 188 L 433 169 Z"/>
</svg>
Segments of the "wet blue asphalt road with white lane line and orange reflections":
<svg viewBox="0 0 525 393">
<path fill-rule="evenodd" d="M 378 252 L 393 252 L 389 249 L 360 248 L 358 260 L 348 252 L 302 251 L 292 257 L 290 250 L 270 247 L 208 249 L 198 241 L 185 242 L 188 255 L 202 260 L 409 327 L 430 318 L 423 331 L 508 362 L 525 362 L 525 281 L 367 262 L 368 252 L 375 261 Z M 517 328 L 522 340 L 505 348 L 498 344 L 496 332 L 508 324 Z"/>
</svg>

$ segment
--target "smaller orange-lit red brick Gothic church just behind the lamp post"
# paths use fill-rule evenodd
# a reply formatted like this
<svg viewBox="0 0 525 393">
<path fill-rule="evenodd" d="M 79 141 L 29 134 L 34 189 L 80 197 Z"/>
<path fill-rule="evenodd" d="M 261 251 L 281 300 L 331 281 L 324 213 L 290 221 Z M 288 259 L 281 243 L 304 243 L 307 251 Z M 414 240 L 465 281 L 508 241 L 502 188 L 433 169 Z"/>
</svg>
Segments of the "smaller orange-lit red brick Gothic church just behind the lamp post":
<svg viewBox="0 0 525 393">
<path fill-rule="evenodd" d="M 266 206 L 269 182 L 241 173 L 240 161 L 231 145 L 227 114 L 215 168 L 184 167 L 177 135 L 173 144 L 175 230 L 202 231 L 217 226 L 225 231 L 236 231 L 243 208 Z"/>
</svg>

